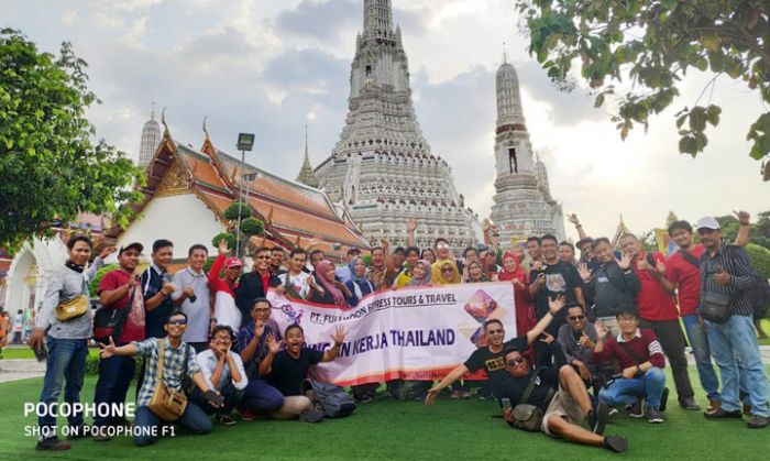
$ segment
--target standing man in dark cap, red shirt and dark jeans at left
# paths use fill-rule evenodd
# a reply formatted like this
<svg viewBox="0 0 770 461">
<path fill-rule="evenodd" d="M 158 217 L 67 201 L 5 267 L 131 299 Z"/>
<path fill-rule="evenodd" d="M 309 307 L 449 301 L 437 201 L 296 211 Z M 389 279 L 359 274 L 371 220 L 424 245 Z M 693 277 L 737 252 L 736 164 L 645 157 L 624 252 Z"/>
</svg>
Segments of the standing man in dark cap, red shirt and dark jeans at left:
<svg viewBox="0 0 770 461">
<path fill-rule="evenodd" d="M 116 327 L 112 340 L 118 345 L 145 339 L 145 310 L 142 285 L 139 283 L 139 259 L 142 254 L 141 243 L 130 243 L 118 252 L 119 268 L 108 272 L 99 282 L 97 294 L 102 309 L 130 309 L 121 325 Z M 134 376 L 135 361 L 131 356 L 110 356 L 99 360 L 99 380 L 94 392 L 96 405 L 122 405 Z M 124 418 L 105 417 L 97 414 L 94 417 L 97 441 L 108 441 L 106 432 L 109 426 L 125 424 Z"/>
</svg>

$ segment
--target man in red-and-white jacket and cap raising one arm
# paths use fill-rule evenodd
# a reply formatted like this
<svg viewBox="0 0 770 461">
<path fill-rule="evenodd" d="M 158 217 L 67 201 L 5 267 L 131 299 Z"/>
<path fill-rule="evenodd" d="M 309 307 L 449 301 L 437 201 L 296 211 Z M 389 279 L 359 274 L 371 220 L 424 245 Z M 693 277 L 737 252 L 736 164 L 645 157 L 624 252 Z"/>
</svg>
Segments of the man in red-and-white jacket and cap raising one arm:
<svg viewBox="0 0 770 461">
<path fill-rule="evenodd" d="M 233 331 L 241 328 L 241 310 L 235 305 L 235 289 L 241 277 L 243 263 L 238 257 L 228 257 L 228 241 L 219 241 L 219 254 L 209 271 L 209 293 L 213 296 L 213 318 L 217 325 L 227 325 Z M 224 267 L 224 276 L 219 273 Z"/>
</svg>

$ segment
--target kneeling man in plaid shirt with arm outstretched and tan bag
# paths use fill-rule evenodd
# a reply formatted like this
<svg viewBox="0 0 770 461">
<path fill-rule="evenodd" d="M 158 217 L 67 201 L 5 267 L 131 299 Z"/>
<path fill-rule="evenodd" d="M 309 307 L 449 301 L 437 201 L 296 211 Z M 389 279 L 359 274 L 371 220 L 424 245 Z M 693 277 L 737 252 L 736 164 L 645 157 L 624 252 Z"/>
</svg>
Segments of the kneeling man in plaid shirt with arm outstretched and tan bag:
<svg viewBox="0 0 770 461">
<path fill-rule="evenodd" d="M 116 347 L 112 338 L 110 338 L 108 345 L 100 344 L 102 359 L 112 355 L 142 355 L 147 360 L 147 366 L 144 369 L 144 382 L 136 397 L 138 409 L 136 418 L 134 419 L 134 427 L 136 428 L 134 441 L 140 447 L 152 444 L 157 440 L 157 429 L 152 428 L 157 428 L 161 424 L 161 418 L 153 414 L 147 406 L 157 384 L 161 341 L 164 341 L 163 381 L 166 385 L 173 391 L 179 391 L 183 380 L 187 375 L 205 393 L 211 406 L 218 407 L 221 404 L 221 397 L 209 387 L 198 367 L 198 363 L 195 360 L 195 349 L 182 340 L 182 334 L 187 328 L 187 315 L 182 311 L 173 312 L 166 319 L 163 328 L 168 333 L 166 338 L 148 338 L 144 341 L 133 341 L 120 348 Z M 211 420 L 208 415 L 189 400 L 185 407 L 185 413 L 175 422 L 197 435 L 211 432 Z"/>
</svg>

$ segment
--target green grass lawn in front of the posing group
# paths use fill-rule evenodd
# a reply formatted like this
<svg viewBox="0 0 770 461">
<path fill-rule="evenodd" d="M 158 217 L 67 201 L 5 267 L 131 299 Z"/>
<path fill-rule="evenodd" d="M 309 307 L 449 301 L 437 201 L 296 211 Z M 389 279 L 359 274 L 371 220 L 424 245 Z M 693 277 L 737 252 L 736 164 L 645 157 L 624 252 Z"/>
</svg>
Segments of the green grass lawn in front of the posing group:
<svg viewBox="0 0 770 461">
<path fill-rule="evenodd" d="M 670 377 L 670 376 L 669 376 Z M 698 381 L 691 371 L 693 385 Z M 88 377 L 84 400 L 94 396 L 95 377 Z M 700 411 L 684 411 L 675 397 L 666 413 L 667 421 L 650 425 L 625 415 L 612 419 L 607 433 L 620 433 L 630 449 L 616 454 L 602 449 L 552 440 L 542 433 L 509 428 L 493 402 L 451 400 L 446 396 L 432 406 L 394 402 L 378 395 L 360 406 L 355 415 L 311 425 L 299 421 L 257 420 L 234 427 L 215 425 L 209 436 L 177 432 L 146 448 L 136 448 L 129 438 L 110 442 L 77 440 L 61 453 L 34 450 L 35 440 L 24 436 L 24 426 L 36 425 L 23 416 L 25 402 L 37 402 L 42 380 L 0 384 L 0 459 L 629 459 L 629 460 L 767 460 L 770 429 L 750 430 L 745 421 L 707 421 Z M 705 404 L 697 388 L 697 400 Z M 130 392 L 133 396 L 133 389 Z M 62 421 L 63 422 L 63 421 Z"/>
</svg>

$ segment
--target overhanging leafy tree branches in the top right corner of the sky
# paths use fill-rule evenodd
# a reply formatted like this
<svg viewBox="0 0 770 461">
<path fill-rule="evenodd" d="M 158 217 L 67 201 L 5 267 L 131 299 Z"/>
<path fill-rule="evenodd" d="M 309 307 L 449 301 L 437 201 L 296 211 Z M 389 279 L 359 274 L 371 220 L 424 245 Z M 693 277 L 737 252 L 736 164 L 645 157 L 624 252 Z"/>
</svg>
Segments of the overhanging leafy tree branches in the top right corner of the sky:
<svg viewBox="0 0 770 461">
<path fill-rule="evenodd" d="M 770 2 L 766 0 L 517 0 L 526 21 L 530 53 L 548 75 L 569 83 L 580 65 L 582 78 L 596 90 L 595 106 L 617 101 L 613 116 L 625 140 L 636 124 L 662 112 L 679 96 L 689 69 L 741 79 L 770 103 Z M 631 89 L 613 81 L 630 77 Z M 569 85 L 566 86 L 569 88 Z M 716 105 L 684 107 L 676 114 L 679 151 L 697 155 L 708 143 L 706 125 L 719 123 Z M 750 121 L 747 121 L 750 123 Z M 763 160 L 770 180 L 770 111 L 750 124 L 750 156 Z"/>
</svg>

